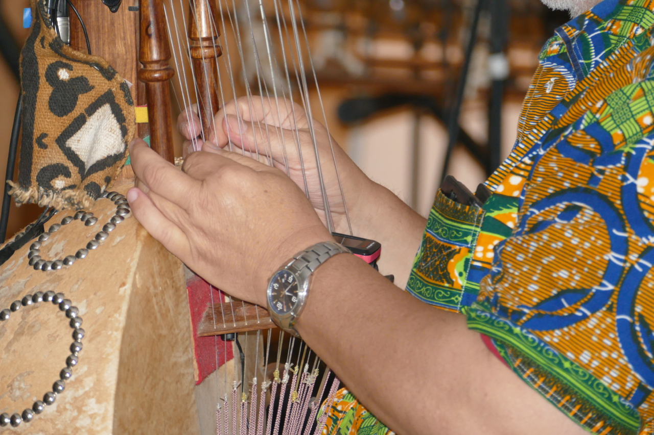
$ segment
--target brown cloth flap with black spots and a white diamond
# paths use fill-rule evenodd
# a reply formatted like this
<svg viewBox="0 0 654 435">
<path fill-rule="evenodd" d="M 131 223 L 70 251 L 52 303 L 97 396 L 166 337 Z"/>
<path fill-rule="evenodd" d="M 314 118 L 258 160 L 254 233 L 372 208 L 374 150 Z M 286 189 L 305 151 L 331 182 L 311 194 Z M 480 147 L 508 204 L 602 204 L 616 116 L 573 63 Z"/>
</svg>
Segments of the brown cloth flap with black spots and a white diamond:
<svg viewBox="0 0 654 435">
<path fill-rule="evenodd" d="M 85 208 L 111 184 L 134 137 L 127 82 L 104 59 L 65 45 L 44 0 L 20 59 L 23 94 L 16 204 Z"/>
</svg>

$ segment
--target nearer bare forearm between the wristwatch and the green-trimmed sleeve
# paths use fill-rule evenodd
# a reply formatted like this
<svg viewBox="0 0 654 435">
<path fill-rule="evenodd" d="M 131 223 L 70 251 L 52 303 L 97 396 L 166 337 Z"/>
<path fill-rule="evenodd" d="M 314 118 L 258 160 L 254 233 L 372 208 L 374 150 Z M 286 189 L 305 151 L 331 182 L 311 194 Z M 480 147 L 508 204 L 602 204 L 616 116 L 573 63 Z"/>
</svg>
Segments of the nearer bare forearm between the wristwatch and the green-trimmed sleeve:
<svg viewBox="0 0 654 435">
<path fill-rule="evenodd" d="M 397 291 L 351 256 L 318 268 L 297 328 L 362 404 L 403 435 L 582 432 L 502 365 L 463 315 Z"/>
</svg>

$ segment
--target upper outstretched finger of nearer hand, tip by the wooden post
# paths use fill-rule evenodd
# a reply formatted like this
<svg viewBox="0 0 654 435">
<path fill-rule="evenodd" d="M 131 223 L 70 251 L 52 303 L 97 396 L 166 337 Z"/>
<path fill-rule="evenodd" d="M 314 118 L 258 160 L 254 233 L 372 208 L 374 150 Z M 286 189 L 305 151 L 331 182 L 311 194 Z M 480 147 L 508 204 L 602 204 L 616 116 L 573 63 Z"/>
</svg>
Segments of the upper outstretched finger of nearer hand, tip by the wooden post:
<svg viewBox="0 0 654 435">
<path fill-rule="evenodd" d="M 129 155 L 134 174 L 147 189 L 182 208 L 188 206 L 189 193 L 197 187 L 195 180 L 165 161 L 139 138 L 129 148 Z"/>
</svg>

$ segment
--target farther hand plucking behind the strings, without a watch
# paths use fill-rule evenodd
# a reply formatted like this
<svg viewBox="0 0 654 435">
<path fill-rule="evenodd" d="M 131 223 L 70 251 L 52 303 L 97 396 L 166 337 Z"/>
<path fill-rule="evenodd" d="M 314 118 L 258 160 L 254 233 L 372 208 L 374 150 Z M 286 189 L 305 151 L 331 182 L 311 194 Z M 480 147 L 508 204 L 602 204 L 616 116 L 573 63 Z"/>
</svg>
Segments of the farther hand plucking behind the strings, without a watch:
<svg viewBox="0 0 654 435">
<path fill-rule="evenodd" d="M 311 134 L 309 118 L 300 105 L 286 99 L 258 96 L 232 100 L 218 110 L 213 125 L 205 128 L 206 141 L 200 136 L 201 121 L 196 110 L 196 107 L 188 108 L 178 119 L 179 131 L 186 138 L 185 154 L 226 148 L 260 161 L 271 161 L 300 186 L 320 219 L 326 223 L 317 150 L 334 231 L 350 232 L 345 206 L 349 216 L 356 221 L 356 210 L 374 183 L 320 122 L 313 120 Z"/>
</svg>

